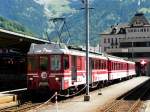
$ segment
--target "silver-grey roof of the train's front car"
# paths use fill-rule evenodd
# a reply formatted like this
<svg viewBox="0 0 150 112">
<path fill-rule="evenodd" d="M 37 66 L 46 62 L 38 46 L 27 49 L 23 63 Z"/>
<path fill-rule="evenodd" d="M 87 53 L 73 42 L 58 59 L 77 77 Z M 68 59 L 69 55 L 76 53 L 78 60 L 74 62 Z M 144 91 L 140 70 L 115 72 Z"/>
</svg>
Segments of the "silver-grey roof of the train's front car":
<svg viewBox="0 0 150 112">
<path fill-rule="evenodd" d="M 28 54 L 71 54 L 85 56 L 86 50 L 80 47 L 66 46 L 65 44 L 31 44 Z M 89 57 L 107 59 L 101 53 L 89 51 Z"/>
</svg>

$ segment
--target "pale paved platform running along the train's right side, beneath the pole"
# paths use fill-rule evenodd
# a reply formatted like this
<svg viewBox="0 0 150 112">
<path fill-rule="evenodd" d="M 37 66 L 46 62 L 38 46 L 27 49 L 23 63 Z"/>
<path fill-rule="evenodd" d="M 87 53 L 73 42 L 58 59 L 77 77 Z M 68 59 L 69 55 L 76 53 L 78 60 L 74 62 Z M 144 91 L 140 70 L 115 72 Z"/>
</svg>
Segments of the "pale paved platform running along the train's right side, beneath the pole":
<svg viewBox="0 0 150 112">
<path fill-rule="evenodd" d="M 99 112 L 104 104 L 116 99 L 148 79 L 149 77 L 145 76 L 134 77 L 130 80 L 102 88 L 101 90 L 90 92 L 90 101 L 84 101 L 84 95 L 81 95 L 54 105 L 43 105 L 39 109 L 34 109 L 29 112 Z M 98 95 L 99 92 L 102 95 Z"/>
</svg>

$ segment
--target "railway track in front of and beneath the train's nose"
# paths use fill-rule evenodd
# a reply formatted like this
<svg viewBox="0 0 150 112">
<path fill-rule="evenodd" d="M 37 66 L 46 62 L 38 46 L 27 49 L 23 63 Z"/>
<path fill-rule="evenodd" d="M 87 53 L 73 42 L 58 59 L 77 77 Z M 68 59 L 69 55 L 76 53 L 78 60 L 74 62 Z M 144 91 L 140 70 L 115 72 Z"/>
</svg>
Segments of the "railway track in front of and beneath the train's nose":
<svg viewBox="0 0 150 112">
<path fill-rule="evenodd" d="M 39 97 L 39 95 L 30 96 L 29 94 L 27 94 L 27 91 L 20 92 L 18 96 L 20 96 L 17 101 L 18 105 L 12 107 L 4 107 L 3 109 L 0 109 L 0 112 L 26 112 L 31 109 L 35 109 L 41 105 L 43 106 L 43 104 L 44 105 L 53 104 L 51 102 L 51 99 L 54 98 L 54 95 L 53 96 L 45 95 L 45 97 L 44 96 Z M 51 98 L 49 99 L 49 97 Z M 45 103 L 45 101 L 47 102 Z"/>
</svg>

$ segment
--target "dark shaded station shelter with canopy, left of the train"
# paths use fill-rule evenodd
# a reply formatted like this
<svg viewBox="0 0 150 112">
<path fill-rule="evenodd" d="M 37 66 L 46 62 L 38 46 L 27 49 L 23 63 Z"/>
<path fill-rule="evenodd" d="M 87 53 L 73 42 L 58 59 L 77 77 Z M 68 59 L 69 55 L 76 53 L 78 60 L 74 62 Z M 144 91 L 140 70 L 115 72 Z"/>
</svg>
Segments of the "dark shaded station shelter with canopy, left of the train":
<svg viewBox="0 0 150 112">
<path fill-rule="evenodd" d="M 27 52 L 31 43 L 48 43 L 24 34 L 0 29 L 0 90 L 26 87 Z"/>
</svg>

